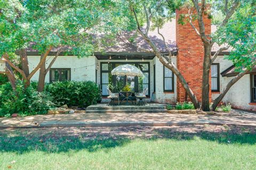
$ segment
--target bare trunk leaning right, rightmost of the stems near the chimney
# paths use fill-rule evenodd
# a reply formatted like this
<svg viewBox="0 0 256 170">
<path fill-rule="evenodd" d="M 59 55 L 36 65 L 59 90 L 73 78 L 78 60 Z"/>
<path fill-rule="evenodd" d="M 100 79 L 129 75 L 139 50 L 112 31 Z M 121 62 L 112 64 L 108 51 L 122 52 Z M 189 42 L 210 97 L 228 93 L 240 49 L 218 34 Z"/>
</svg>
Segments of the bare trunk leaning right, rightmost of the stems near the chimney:
<svg viewBox="0 0 256 170">
<path fill-rule="evenodd" d="M 245 74 L 247 74 L 249 71 L 246 70 L 245 72 L 241 72 L 238 74 L 235 78 L 231 79 L 230 82 L 228 82 L 227 86 L 224 88 L 222 93 L 216 98 L 212 104 L 212 110 L 215 110 L 218 106 L 218 104 L 221 102 L 221 100 L 224 98 L 224 96 L 227 94 L 229 89 L 240 79 L 242 78 Z"/>
</svg>

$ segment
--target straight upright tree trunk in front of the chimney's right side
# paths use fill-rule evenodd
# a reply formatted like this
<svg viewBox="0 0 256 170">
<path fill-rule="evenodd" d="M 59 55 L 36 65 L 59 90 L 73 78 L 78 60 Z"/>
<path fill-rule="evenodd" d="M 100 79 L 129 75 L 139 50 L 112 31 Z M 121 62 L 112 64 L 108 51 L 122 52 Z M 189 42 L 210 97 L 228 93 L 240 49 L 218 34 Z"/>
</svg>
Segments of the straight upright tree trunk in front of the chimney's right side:
<svg viewBox="0 0 256 170">
<path fill-rule="evenodd" d="M 202 105 L 203 111 L 210 111 L 209 101 L 209 76 L 211 69 L 211 46 L 209 44 L 204 45 L 204 63 L 203 63 L 203 78 L 202 78 Z"/>
</svg>

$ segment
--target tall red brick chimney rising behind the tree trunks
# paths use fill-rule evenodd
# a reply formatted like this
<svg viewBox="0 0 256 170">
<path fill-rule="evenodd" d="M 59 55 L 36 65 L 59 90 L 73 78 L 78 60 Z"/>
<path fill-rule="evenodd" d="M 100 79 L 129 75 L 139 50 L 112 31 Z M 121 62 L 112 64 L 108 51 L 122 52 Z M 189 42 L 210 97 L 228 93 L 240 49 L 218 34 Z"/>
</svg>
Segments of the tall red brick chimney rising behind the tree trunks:
<svg viewBox="0 0 256 170">
<path fill-rule="evenodd" d="M 195 30 L 187 22 L 185 25 L 178 23 L 180 14 L 187 14 L 188 9 L 183 8 L 176 10 L 176 42 L 178 46 L 177 67 L 181 74 L 189 83 L 190 88 L 195 93 L 197 99 L 202 101 L 202 75 L 204 47 L 201 38 L 196 34 Z M 193 21 L 195 27 L 198 28 L 197 20 Z M 211 19 L 204 15 L 205 34 L 211 34 Z M 211 101 L 211 79 L 210 79 L 210 101 Z M 185 101 L 185 90 L 181 83 L 177 82 L 177 101 Z"/>
</svg>

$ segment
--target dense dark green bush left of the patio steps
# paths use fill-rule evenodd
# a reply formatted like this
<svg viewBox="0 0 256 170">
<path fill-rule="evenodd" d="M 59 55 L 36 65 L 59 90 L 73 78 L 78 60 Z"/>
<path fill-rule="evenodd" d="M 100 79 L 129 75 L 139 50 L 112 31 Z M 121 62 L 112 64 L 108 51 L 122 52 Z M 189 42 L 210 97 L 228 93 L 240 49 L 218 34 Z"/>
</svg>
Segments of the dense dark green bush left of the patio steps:
<svg viewBox="0 0 256 170">
<path fill-rule="evenodd" d="M 96 104 L 101 97 L 98 85 L 90 81 L 54 82 L 46 84 L 45 91 L 51 94 L 54 103 L 67 104 L 69 107 L 87 107 Z"/>
</svg>

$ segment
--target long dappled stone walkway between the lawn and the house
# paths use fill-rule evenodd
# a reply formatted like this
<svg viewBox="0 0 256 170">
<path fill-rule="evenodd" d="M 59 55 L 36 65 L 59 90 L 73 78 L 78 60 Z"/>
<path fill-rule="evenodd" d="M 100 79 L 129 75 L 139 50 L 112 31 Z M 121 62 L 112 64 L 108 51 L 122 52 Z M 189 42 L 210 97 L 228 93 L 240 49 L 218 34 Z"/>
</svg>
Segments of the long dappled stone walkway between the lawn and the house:
<svg viewBox="0 0 256 170">
<path fill-rule="evenodd" d="M 167 113 L 137 114 L 71 114 L 36 115 L 18 118 L 0 118 L 0 128 L 29 127 L 104 127 L 104 126 L 169 126 L 169 125 L 249 125 L 256 126 L 256 113 L 232 110 L 229 114 L 186 115 Z"/>
</svg>

